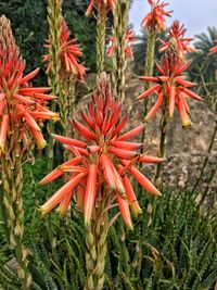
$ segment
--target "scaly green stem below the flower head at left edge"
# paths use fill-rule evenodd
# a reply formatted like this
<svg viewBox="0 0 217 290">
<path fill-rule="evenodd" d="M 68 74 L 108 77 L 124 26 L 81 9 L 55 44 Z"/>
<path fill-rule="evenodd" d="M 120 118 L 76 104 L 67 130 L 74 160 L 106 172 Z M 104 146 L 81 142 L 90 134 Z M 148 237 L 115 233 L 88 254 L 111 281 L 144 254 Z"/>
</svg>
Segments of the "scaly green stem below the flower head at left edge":
<svg viewBox="0 0 217 290">
<path fill-rule="evenodd" d="M 20 133 L 14 134 L 14 138 L 8 138 L 5 152 L 7 155 L 1 160 L 2 181 L 4 188 L 3 205 L 7 211 L 8 228 L 10 232 L 10 245 L 15 252 L 18 263 L 18 277 L 22 289 L 28 290 L 31 285 L 31 275 L 27 268 L 28 251 L 23 245 L 23 171 L 21 161 L 21 146 L 15 144 Z"/>
</svg>

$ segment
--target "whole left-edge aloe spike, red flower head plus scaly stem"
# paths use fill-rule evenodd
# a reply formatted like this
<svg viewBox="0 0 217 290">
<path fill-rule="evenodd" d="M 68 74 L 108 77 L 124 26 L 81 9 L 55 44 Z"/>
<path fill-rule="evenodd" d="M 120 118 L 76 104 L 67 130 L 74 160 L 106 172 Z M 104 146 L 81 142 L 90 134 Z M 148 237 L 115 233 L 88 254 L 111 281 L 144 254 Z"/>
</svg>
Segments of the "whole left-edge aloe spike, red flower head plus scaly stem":
<svg viewBox="0 0 217 290">
<path fill-rule="evenodd" d="M 35 141 L 39 149 L 46 146 L 41 131 L 43 119 L 59 119 L 48 109 L 54 97 L 50 88 L 33 87 L 30 80 L 38 68 L 24 73 L 25 61 L 20 55 L 10 22 L 0 17 L 0 156 L 3 192 L 0 210 L 4 218 L 8 243 L 14 249 L 18 263 L 22 289 L 30 289 L 31 276 L 27 268 L 27 250 L 23 245 L 23 172 L 24 151 Z"/>
</svg>

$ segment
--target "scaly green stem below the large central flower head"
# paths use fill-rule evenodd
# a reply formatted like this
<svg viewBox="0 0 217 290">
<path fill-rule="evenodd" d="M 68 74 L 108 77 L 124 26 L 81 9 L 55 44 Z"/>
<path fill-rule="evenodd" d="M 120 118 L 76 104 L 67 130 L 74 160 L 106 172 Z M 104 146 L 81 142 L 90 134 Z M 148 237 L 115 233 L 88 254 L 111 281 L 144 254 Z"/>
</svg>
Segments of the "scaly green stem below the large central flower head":
<svg viewBox="0 0 217 290">
<path fill-rule="evenodd" d="M 108 218 L 105 209 L 105 200 L 99 201 L 99 206 L 95 207 L 93 219 L 86 227 L 86 266 L 87 266 L 87 282 L 85 290 L 102 290 L 104 285 L 104 267 L 107 252 L 107 231 Z"/>
</svg>

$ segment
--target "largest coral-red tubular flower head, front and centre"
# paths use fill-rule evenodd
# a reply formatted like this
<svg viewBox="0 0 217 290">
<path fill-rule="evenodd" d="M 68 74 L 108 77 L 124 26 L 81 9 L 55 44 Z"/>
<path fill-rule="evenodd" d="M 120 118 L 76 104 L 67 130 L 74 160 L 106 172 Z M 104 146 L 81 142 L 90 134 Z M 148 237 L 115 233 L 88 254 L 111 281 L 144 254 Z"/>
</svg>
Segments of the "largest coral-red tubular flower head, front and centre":
<svg viewBox="0 0 217 290">
<path fill-rule="evenodd" d="M 141 144 L 127 141 L 144 129 L 143 124 L 128 133 L 119 134 L 127 121 L 126 117 L 119 119 L 120 113 L 120 104 L 111 91 L 108 79 L 102 74 L 95 92 L 88 104 L 88 110 L 81 112 L 86 125 L 76 119 L 71 121 L 72 126 L 87 142 L 53 135 L 54 139 L 64 143 L 65 149 L 73 152 L 75 156 L 58 166 L 41 180 L 41 184 L 47 184 L 65 173 L 69 178 L 41 206 L 43 214 L 50 212 L 58 204 L 60 204 L 61 214 L 63 214 L 63 211 L 67 210 L 65 205 L 69 204 L 66 196 L 77 194 L 78 207 L 80 209 L 84 204 L 85 224 L 89 225 L 95 204 L 102 197 L 106 197 L 106 201 L 110 201 L 105 205 L 106 209 L 112 205 L 114 199 L 117 199 L 125 223 L 132 228 L 130 211 L 137 216 L 141 209 L 127 175 L 135 177 L 152 194 L 161 196 L 161 192 L 137 169 L 137 164 L 139 162 L 161 163 L 164 160 L 139 154 L 136 150 Z"/>
</svg>

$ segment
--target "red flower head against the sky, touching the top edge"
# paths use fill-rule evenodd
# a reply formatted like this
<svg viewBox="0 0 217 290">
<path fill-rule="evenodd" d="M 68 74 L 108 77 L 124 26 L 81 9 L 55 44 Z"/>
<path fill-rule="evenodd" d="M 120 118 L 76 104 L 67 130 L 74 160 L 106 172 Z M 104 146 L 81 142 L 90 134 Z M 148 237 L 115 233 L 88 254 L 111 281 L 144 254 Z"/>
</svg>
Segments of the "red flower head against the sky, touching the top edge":
<svg viewBox="0 0 217 290">
<path fill-rule="evenodd" d="M 165 16 L 170 17 L 170 13 L 173 11 L 165 11 L 165 7 L 167 7 L 168 3 L 159 3 L 159 0 L 148 1 L 151 5 L 151 12 L 146 14 L 146 16 L 141 22 L 141 25 L 150 30 L 161 33 L 161 30 L 165 30 Z"/>
</svg>

